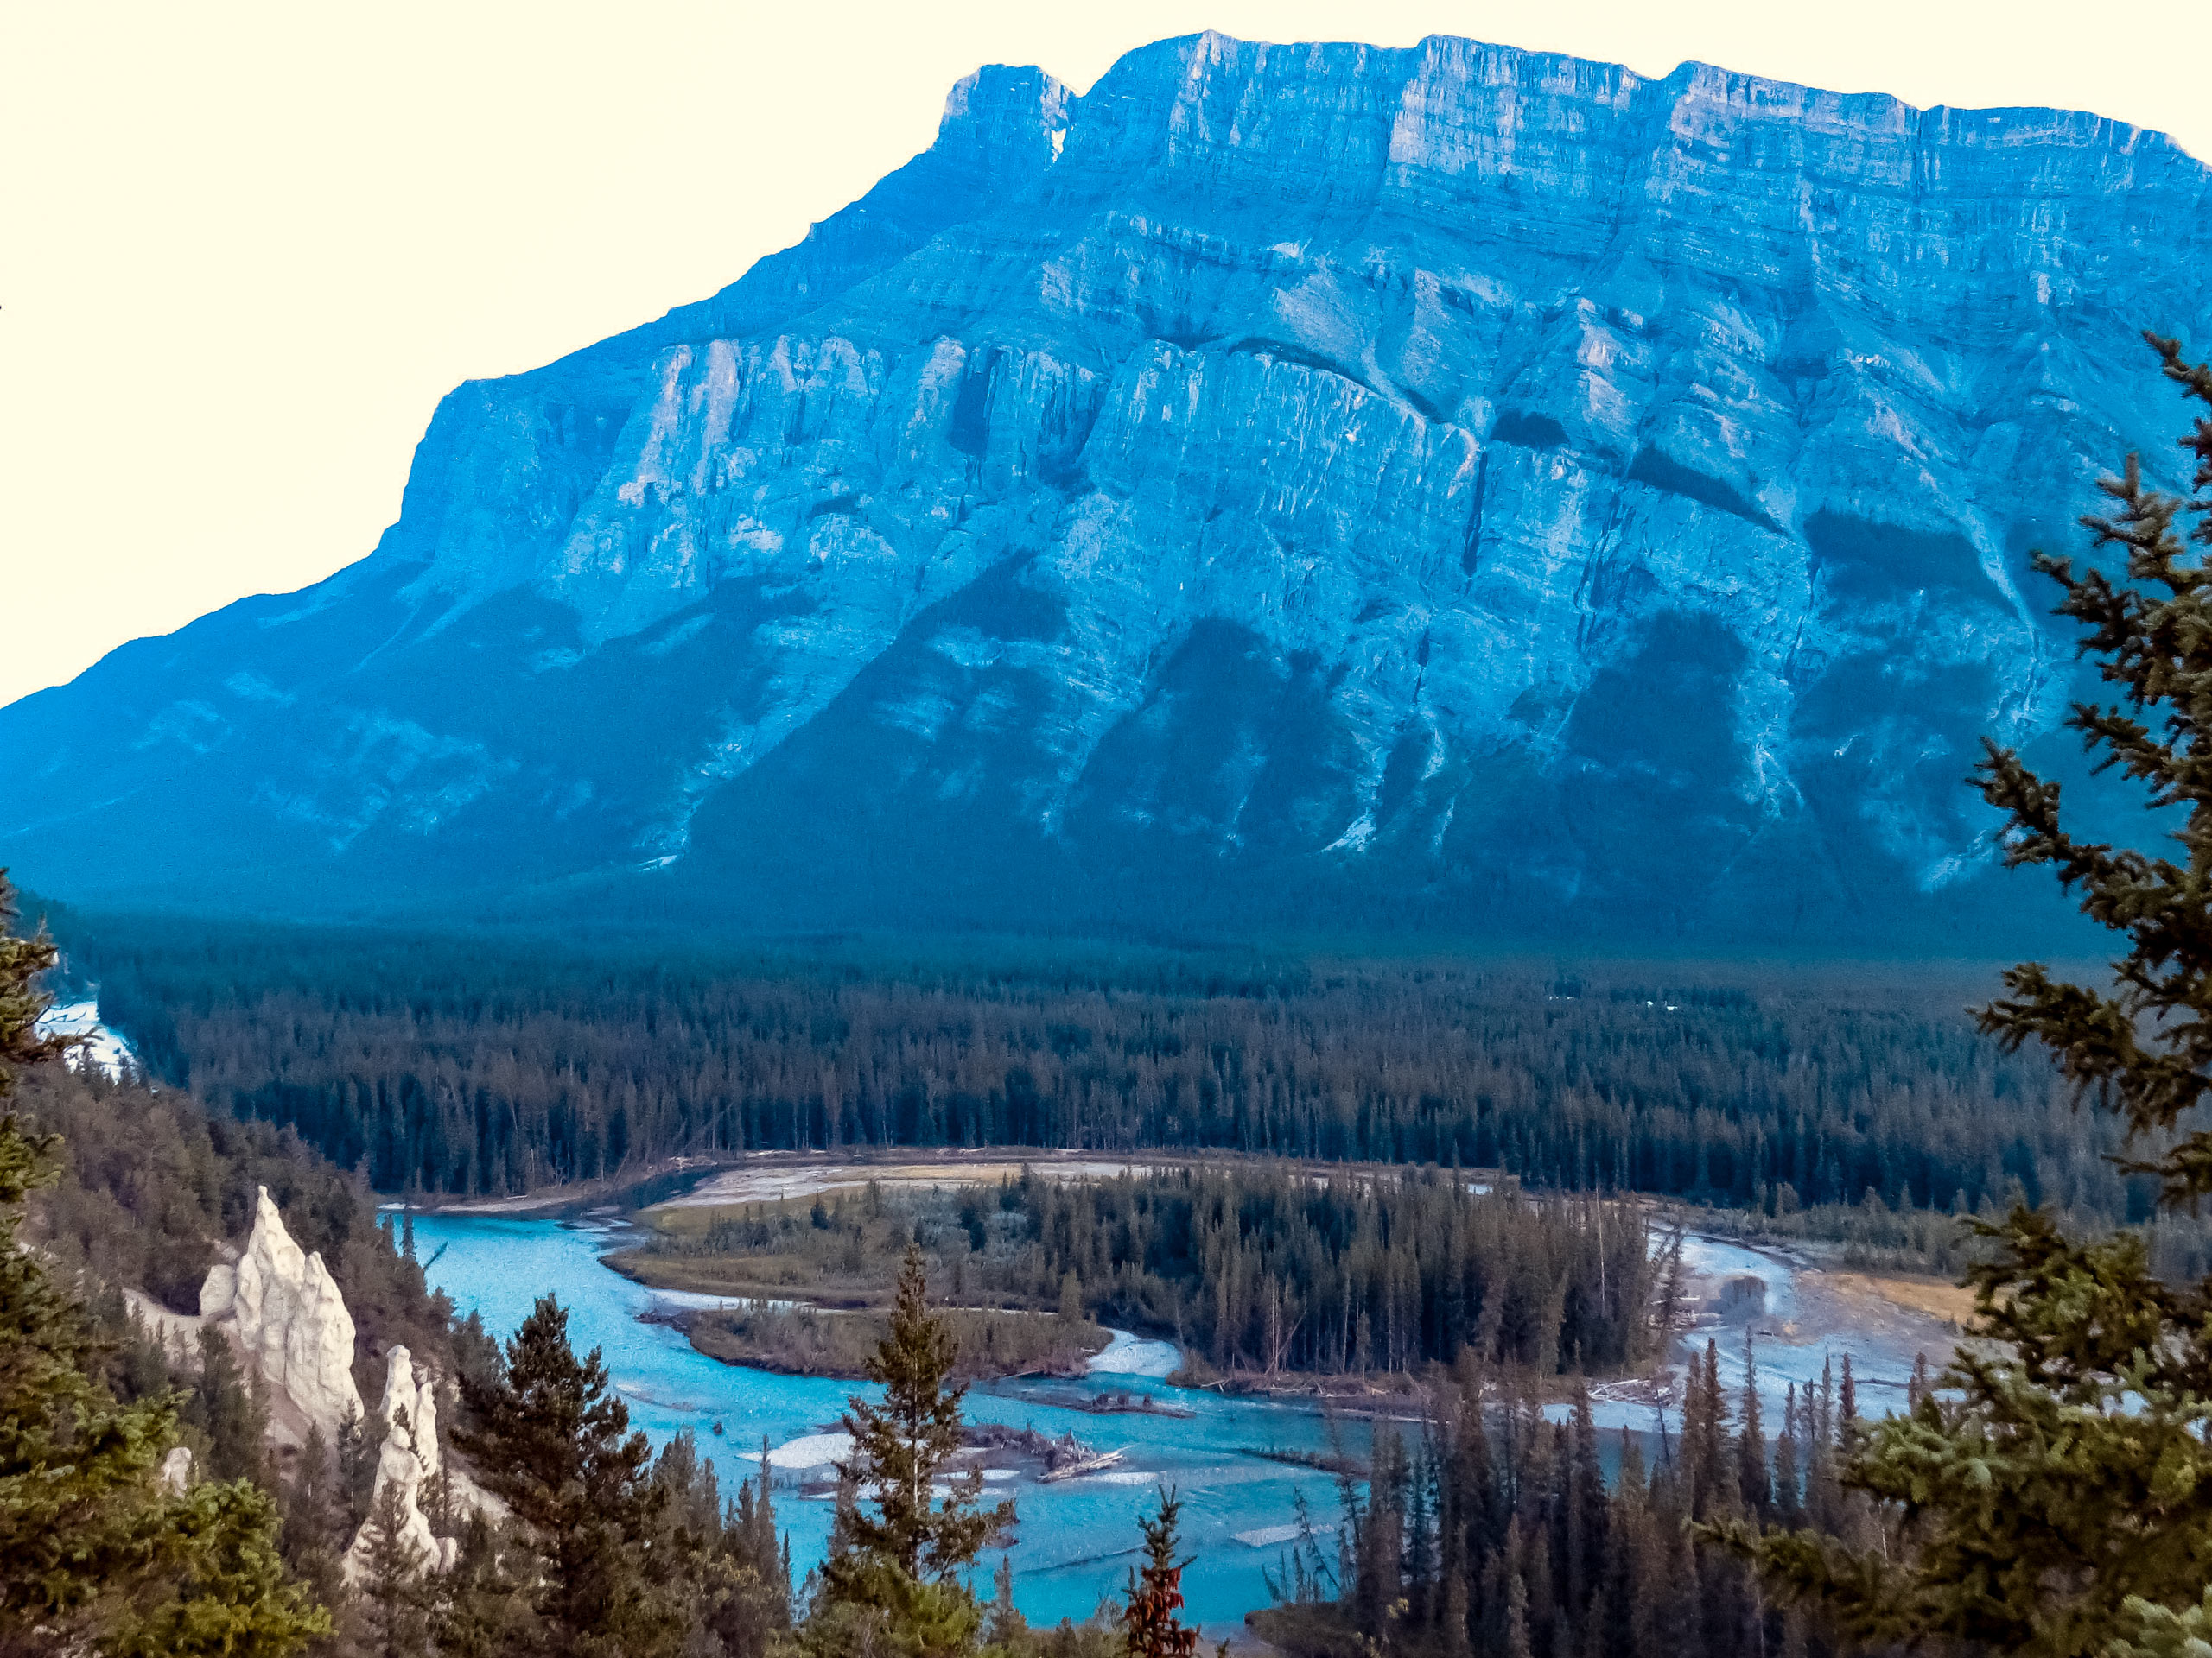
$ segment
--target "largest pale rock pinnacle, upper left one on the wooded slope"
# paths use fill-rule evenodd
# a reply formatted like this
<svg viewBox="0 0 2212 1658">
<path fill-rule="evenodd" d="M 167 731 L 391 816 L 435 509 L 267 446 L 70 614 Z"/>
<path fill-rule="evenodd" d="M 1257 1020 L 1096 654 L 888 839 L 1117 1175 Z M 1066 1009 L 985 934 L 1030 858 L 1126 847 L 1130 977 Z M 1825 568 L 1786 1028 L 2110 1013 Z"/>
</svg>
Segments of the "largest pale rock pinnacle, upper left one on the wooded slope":
<svg viewBox="0 0 2212 1658">
<path fill-rule="evenodd" d="M 303 1433 L 314 1424 L 325 1444 L 336 1444 L 338 1426 L 363 1415 L 354 1386 L 354 1318 L 323 1258 L 292 1242 L 268 1187 L 254 1200 L 254 1227 L 239 1260 L 208 1269 L 199 1318 L 237 1342 L 268 1386 L 281 1426 Z"/>
</svg>

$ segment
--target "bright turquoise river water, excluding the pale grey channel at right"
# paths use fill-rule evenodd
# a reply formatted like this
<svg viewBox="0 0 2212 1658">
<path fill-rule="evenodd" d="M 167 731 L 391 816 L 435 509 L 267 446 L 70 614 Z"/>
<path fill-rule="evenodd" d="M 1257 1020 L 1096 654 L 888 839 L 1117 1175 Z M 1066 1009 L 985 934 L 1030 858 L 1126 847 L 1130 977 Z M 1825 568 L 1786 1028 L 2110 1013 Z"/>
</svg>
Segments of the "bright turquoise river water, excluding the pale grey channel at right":
<svg viewBox="0 0 2212 1658">
<path fill-rule="evenodd" d="M 801 1459 L 818 1446 L 805 1441 L 836 1428 L 854 1382 L 770 1375 L 748 1371 L 692 1351 L 666 1324 L 644 1324 L 639 1313 L 655 1291 L 599 1262 L 617 1242 L 604 1227 L 555 1220 L 493 1216 L 418 1216 L 416 1247 L 429 1280 L 453 1298 L 467 1315 L 507 1335 L 531 1311 L 531 1302 L 553 1291 L 568 1309 L 568 1337 L 577 1351 L 597 1346 L 608 1375 L 630 1406 L 630 1421 L 655 1444 L 692 1428 L 701 1450 L 714 1457 L 723 1494 L 734 1494 L 759 1457 L 761 1437 L 790 1446 Z M 1146 1346 L 1119 1342 L 1126 1362 L 1159 1368 Z M 1194 1620 L 1219 1627 L 1241 1623 L 1250 1607 L 1267 1605 L 1263 1570 L 1279 1565 L 1279 1545 L 1239 1541 L 1239 1532 L 1287 1528 L 1294 1494 L 1305 1492 L 1314 1523 L 1338 1519 L 1336 1483 L 1327 1475 L 1241 1455 L 1245 1448 L 1327 1450 L 1329 1426 L 1318 1410 L 1259 1399 L 1223 1399 L 1212 1393 L 1170 1388 L 1141 1373 L 1097 1375 L 1097 1388 L 1150 1393 L 1161 1404 L 1192 1410 L 1190 1417 L 1091 1415 L 1044 1404 L 1044 1393 L 1066 1393 L 1068 1382 L 998 1384 L 975 1388 L 967 1415 L 975 1421 L 1035 1426 L 1048 1435 L 1073 1430 L 1099 1450 L 1121 1450 L 1124 1461 L 1102 1475 L 1037 1483 L 1029 1470 L 987 1486 L 987 1501 L 1011 1494 L 1018 1505 L 1013 1554 L 1015 1605 L 1031 1623 L 1088 1616 L 1102 1596 L 1119 1596 L 1137 1561 L 1137 1517 L 1157 1503 L 1157 1488 L 1172 1486 L 1183 1497 L 1183 1594 Z M 714 1426 L 723 1433 L 717 1437 Z M 1343 1424 L 1345 1450 L 1367 1457 L 1369 1433 L 1358 1421 Z M 787 1459 L 779 1459 L 787 1461 Z M 1006 1466 L 1013 1466 L 1006 1459 Z M 827 1472 L 816 1466 L 816 1472 Z M 790 1530 L 792 1561 L 805 1572 L 823 1554 L 830 1534 L 830 1501 L 799 1494 L 799 1472 L 779 1468 L 776 1519 Z M 1323 1536 L 1334 1561 L 1334 1534 Z M 984 1567 L 995 1567 L 987 1556 Z M 1225 1634 L 1225 1627 L 1217 1629 Z"/>
</svg>

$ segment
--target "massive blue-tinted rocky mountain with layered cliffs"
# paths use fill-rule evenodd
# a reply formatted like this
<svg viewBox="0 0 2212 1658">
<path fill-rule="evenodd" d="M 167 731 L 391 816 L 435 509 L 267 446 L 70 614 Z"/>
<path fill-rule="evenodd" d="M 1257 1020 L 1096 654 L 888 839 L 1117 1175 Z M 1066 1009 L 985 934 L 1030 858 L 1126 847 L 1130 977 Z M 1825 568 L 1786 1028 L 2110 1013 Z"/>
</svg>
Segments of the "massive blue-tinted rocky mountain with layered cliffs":
<svg viewBox="0 0 2212 1658">
<path fill-rule="evenodd" d="M 2135 332 L 2212 334 L 2208 272 L 2212 172 L 2090 115 L 1469 40 L 984 69 L 714 298 L 453 391 L 372 557 L 0 712 L 0 862 L 1975 944 L 2026 893 L 1960 778 L 2077 676 L 2026 548 L 2174 475 Z"/>
</svg>

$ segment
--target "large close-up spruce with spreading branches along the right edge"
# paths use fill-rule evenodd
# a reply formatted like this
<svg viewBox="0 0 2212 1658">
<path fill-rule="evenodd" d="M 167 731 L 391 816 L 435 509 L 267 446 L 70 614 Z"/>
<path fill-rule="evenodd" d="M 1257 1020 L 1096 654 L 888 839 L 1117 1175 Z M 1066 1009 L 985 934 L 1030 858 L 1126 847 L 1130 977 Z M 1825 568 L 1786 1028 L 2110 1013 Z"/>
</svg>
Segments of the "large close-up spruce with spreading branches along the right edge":
<svg viewBox="0 0 2212 1658">
<path fill-rule="evenodd" d="M 2168 378 L 2212 405 L 2212 369 L 2148 338 Z M 2117 508 L 2084 520 L 2099 548 L 2124 548 L 2119 579 L 2035 557 L 2117 688 L 2066 723 L 2099 769 L 2141 785 L 2172 849 L 2077 836 L 2059 785 L 1991 743 L 1978 780 L 2004 814 L 2006 864 L 2051 867 L 2126 951 L 2108 986 L 2020 964 L 1980 1024 L 2048 1048 L 2150 1154 L 2124 1167 L 2194 1209 L 2212 1196 L 2212 1132 L 2183 1123 L 2212 1090 L 2212 559 L 2190 542 L 2212 546 L 2212 420 L 2181 447 L 2197 495 L 2150 489 L 2130 455 L 2104 482 Z M 1995 1245 L 1969 1273 L 1973 1333 L 1991 1346 L 1962 1349 L 1909 1415 L 1847 1424 L 1843 1481 L 1889 1505 L 1907 1547 L 1743 1528 L 1734 1541 L 1860 1638 L 2037 1658 L 2179 1649 L 2212 1581 L 2212 1282 L 2159 1280 L 2141 1231 L 2077 1242 L 2024 1205 L 1975 1229 Z"/>
</svg>

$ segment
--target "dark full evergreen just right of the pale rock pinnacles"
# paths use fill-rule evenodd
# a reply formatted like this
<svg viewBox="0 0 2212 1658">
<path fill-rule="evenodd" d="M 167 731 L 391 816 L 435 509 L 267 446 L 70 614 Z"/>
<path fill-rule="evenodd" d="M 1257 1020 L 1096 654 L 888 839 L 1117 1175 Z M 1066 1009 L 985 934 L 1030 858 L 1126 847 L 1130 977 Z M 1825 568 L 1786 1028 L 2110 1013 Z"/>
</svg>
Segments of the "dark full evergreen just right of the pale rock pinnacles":
<svg viewBox="0 0 2212 1658">
<path fill-rule="evenodd" d="M 630 1433 L 599 1349 L 577 1360 L 568 1313 L 542 1295 L 507 1342 L 493 1382 L 462 1379 L 456 1448 L 507 1501 L 538 1556 L 529 1601 L 549 1658 L 655 1658 L 684 1645 L 681 1585 L 650 1543 L 666 1490 Z"/>
</svg>

